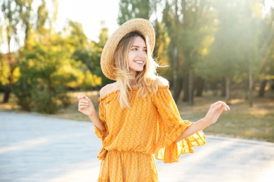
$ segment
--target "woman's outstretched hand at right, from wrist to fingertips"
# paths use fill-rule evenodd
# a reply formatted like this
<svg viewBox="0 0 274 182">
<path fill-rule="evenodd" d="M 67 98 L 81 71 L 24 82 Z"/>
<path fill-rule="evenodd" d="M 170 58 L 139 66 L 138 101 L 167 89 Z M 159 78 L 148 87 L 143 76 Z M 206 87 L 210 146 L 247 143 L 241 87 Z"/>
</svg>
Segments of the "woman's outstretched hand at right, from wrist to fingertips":
<svg viewBox="0 0 274 182">
<path fill-rule="evenodd" d="M 207 115 L 204 117 L 204 119 L 208 120 L 211 124 L 216 123 L 218 117 L 221 116 L 221 113 L 223 113 L 223 111 L 229 110 L 230 107 L 225 102 L 215 102 L 214 104 L 211 104 L 209 111 L 207 112 Z"/>
</svg>

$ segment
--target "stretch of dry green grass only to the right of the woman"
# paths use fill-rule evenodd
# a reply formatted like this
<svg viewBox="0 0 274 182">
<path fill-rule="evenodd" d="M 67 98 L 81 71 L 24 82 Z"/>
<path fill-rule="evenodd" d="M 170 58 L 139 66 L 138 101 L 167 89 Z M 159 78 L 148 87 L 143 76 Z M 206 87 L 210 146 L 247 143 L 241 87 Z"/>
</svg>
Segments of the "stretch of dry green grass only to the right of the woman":
<svg viewBox="0 0 274 182">
<path fill-rule="evenodd" d="M 210 104 L 222 98 L 196 98 L 195 106 L 178 103 L 183 119 L 199 120 L 207 113 Z M 230 111 L 224 112 L 218 121 L 206 129 L 205 134 L 242 139 L 274 142 L 274 93 L 268 91 L 266 97 L 254 96 L 252 108 L 244 99 L 232 99 Z"/>
</svg>

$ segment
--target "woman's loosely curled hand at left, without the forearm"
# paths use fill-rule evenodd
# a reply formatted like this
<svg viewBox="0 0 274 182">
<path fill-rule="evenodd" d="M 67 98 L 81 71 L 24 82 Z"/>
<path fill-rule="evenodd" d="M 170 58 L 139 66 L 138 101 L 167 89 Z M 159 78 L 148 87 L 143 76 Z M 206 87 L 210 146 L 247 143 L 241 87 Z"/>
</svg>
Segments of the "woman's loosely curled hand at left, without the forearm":
<svg viewBox="0 0 274 182">
<path fill-rule="evenodd" d="M 84 113 L 86 116 L 89 117 L 93 116 L 93 114 L 96 113 L 96 110 L 89 97 L 86 97 L 86 95 L 84 94 L 79 94 L 77 99 L 79 99 L 78 110 L 81 113 Z"/>
</svg>

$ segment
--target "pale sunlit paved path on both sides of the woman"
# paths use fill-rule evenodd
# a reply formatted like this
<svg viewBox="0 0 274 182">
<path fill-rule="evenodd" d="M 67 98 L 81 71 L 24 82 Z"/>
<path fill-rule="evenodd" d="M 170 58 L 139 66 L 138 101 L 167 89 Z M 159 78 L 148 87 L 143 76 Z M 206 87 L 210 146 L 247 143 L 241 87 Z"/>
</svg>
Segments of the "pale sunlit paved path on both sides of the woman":
<svg viewBox="0 0 274 182">
<path fill-rule="evenodd" d="M 99 149 L 92 123 L 0 112 L 1 182 L 96 181 Z M 273 181 L 274 144 L 208 136 L 178 163 L 156 164 L 159 181 Z"/>
</svg>

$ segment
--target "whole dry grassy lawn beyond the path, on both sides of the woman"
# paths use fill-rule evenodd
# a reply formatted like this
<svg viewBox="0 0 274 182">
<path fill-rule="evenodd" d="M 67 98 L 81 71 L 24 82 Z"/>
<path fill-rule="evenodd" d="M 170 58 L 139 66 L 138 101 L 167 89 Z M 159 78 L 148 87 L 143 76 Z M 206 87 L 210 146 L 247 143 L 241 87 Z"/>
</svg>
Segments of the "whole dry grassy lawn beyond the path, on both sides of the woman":
<svg viewBox="0 0 274 182">
<path fill-rule="evenodd" d="M 28 113 L 36 116 L 46 116 L 52 118 L 65 118 L 70 120 L 86 120 L 89 118 L 77 110 L 77 95 L 80 92 L 71 92 L 72 104 L 67 108 L 58 111 L 54 115 L 43 115 L 39 113 Z M 81 92 L 91 98 L 94 105 L 98 106 L 98 92 Z M 230 111 L 225 112 L 218 119 L 217 123 L 207 127 L 205 134 L 216 136 L 235 137 L 242 139 L 254 139 L 260 141 L 274 142 L 274 92 L 266 92 L 265 97 L 256 97 L 254 92 L 254 104 L 250 108 L 245 99 L 232 99 Z M 240 96 L 237 95 L 237 98 Z M 3 94 L 0 94 L 2 100 Z M 185 102 L 178 102 L 178 109 L 184 120 L 197 121 L 204 117 L 210 104 L 223 100 L 223 97 L 213 97 L 211 92 L 205 92 L 204 97 L 195 97 L 194 106 L 188 106 Z M 10 111 L 13 113 L 24 113 L 16 106 L 14 98 L 11 103 L 0 104 L 0 111 Z"/>
</svg>

